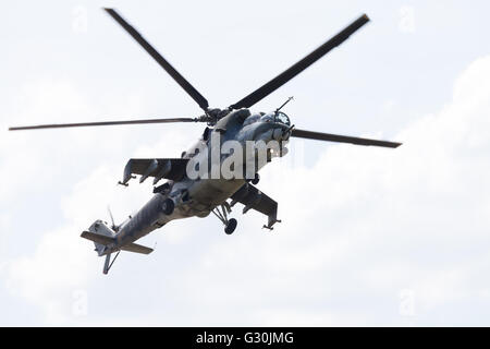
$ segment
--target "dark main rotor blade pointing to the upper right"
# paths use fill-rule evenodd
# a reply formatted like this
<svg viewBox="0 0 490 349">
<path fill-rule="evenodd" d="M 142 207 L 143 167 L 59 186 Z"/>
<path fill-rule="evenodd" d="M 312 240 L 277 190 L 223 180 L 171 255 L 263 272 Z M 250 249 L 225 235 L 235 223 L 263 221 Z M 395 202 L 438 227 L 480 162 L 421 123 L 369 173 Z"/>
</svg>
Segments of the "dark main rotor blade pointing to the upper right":
<svg viewBox="0 0 490 349">
<path fill-rule="evenodd" d="M 317 60 L 322 58 L 324 55 L 327 55 L 329 51 L 331 51 L 336 46 L 341 45 L 343 41 L 345 41 L 354 32 L 359 29 L 363 25 L 369 22 L 369 19 L 366 14 L 363 14 L 360 17 L 358 17 L 356 21 L 354 21 L 350 26 L 347 26 L 345 29 L 336 34 L 334 37 L 332 37 L 330 40 L 321 45 L 319 48 L 317 48 L 315 51 L 303 58 L 301 61 L 298 61 L 296 64 L 292 65 L 290 69 L 285 70 L 283 73 L 279 74 L 271 81 L 269 81 L 264 86 L 259 87 L 258 89 L 254 91 L 252 94 L 243 98 L 242 100 L 235 103 L 234 105 L 230 106 L 230 108 L 233 109 L 240 109 L 240 108 L 249 108 L 253 105 L 255 105 L 257 101 L 262 99 L 264 97 L 268 96 L 282 85 L 284 85 L 286 82 L 292 80 L 294 76 L 303 72 L 306 68 L 315 63 Z"/>
</svg>

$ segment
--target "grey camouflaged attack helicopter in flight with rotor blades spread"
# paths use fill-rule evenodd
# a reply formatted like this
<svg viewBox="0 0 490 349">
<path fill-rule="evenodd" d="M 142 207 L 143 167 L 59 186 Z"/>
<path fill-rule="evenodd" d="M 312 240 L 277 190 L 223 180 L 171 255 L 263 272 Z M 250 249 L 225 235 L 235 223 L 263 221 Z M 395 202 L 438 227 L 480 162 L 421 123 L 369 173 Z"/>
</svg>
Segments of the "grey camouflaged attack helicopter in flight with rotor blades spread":
<svg viewBox="0 0 490 349">
<path fill-rule="evenodd" d="M 56 128 L 76 127 L 100 127 L 118 124 L 143 124 L 143 123 L 170 123 L 170 122 L 206 122 L 207 127 L 188 151 L 184 152 L 181 158 L 156 158 L 156 159 L 130 159 L 124 168 L 123 180 L 119 182 L 127 185 L 127 182 L 139 174 L 139 182 L 148 177 L 154 178 L 154 185 L 161 179 L 167 182 L 159 186 L 154 186 L 155 195 L 143 206 L 133 217 L 130 217 L 121 225 L 115 225 L 111 215 L 112 224 L 108 225 L 102 220 L 96 220 L 87 231 L 82 232 L 82 237 L 95 243 L 95 250 L 99 256 L 106 256 L 103 274 L 107 274 L 112 263 L 121 251 L 130 251 L 149 254 L 152 249 L 136 244 L 135 241 L 148 234 L 155 229 L 161 228 L 167 222 L 187 217 L 206 217 L 211 212 L 223 222 L 224 231 L 233 233 L 236 228 L 236 219 L 229 218 L 231 207 L 236 203 L 245 207 L 243 213 L 249 209 L 268 217 L 265 228 L 272 229 L 272 226 L 280 221 L 277 218 L 278 203 L 259 191 L 254 184 L 259 181 L 255 170 L 260 169 L 260 165 L 254 167 L 253 176 L 235 177 L 225 179 L 223 177 L 191 178 L 188 176 L 188 163 L 196 161 L 199 157 L 208 157 L 212 152 L 211 140 L 215 135 L 220 135 L 219 145 L 226 141 L 235 141 L 244 148 L 247 142 L 257 141 L 279 141 L 283 144 L 290 137 L 299 137 L 317 141 L 352 143 L 358 145 L 373 145 L 396 148 L 401 143 L 359 139 L 321 132 L 313 132 L 296 129 L 291 124 L 290 118 L 280 108 L 272 112 L 252 113 L 248 108 L 274 92 L 294 76 L 303 72 L 306 68 L 315 63 L 330 50 L 345 41 L 353 33 L 369 22 L 367 15 L 362 15 L 339 34 L 318 47 L 301 61 L 257 88 L 243 99 L 224 109 L 209 108 L 205 97 L 188 83 L 143 36 L 131 26 L 113 9 L 103 9 L 112 16 L 159 64 L 175 82 L 199 105 L 204 115 L 197 118 L 174 118 L 174 119 L 146 119 L 126 121 L 105 121 L 105 122 L 81 122 L 62 124 L 41 124 L 32 127 L 16 127 L 9 130 L 38 130 Z M 287 100 L 289 101 L 289 100 Z M 287 103 L 286 101 L 286 103 Z M 269 152 L 270 151 L 270 152 Z M 281 145 L 279 152 L 271 155 L 273 149 L 267 149 L 266 163 L 274 156 L 283 156 L 286 148 Z M 257 153 L 253 153 L 252 161 L 257 163 Z M 212 158 L 212 154 L 211 154 Z M 226 160 L 226 156 L 218 156 L 219 165 Z M 249 160 L 249 159 L 248 159 Z M 247 163 L 248 164 L 248 163 Z M 264 166 L 262 164 L 261 166 Z M 248 169 L 247 169 L 248 173 Z M 111 254 L 117 253 L 111 260 Z"/>
</svg>

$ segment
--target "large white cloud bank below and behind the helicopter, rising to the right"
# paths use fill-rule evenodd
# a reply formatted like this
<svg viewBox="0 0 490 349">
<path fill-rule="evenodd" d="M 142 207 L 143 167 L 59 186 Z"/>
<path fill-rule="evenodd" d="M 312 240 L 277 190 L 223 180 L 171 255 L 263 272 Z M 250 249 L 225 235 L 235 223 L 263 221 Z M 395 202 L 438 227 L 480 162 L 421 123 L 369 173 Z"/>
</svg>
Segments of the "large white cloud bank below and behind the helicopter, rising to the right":
<svg viewBox="0 0 490 349">
<path fill-rule="evenodd" d="M 280 203 L 273 232 L 240 209 L 232 237 L 212 218 L 175 221 L 154 232 L 164 240 L 151 256 L 125 254 L 109 277 L 79 230 L 108 201 L 121 214 L 140 206 L 150 186 L 121 190 L 121 164 L 97 166 L 61 201 L 60 226 L 8 262 L 5 282 L 49 324 L 400 325 L 403 290 L 411 323 L 485 324 L 489 82 L 490 57 L 473 62 L 451 101 L 394 137 L 399 149 L 326 145 L 313 166 L 270 165 L 258 186 Z M 175 134 L 134 154 L 182 149 Z M 77 289 L 85 317 L 72 313 Z"/>
</svg>

